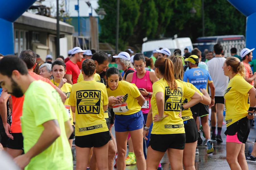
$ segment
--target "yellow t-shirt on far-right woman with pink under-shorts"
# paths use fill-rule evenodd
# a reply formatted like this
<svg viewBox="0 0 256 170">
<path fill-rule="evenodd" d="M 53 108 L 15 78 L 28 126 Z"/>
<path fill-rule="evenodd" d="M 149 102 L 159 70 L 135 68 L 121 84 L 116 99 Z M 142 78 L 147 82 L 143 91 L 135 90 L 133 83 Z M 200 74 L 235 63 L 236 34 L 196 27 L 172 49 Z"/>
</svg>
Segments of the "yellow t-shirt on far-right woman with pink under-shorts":
<svg viewBox="0 0 256 170">
<path fill-rule="evenodd" d="M 250 106 L 248 92 L 251 88 L 253 86 L 239 74 L 230 79 L 224 94 L 227 127 L 248 115 L 247 110 Z"/>
</svg>

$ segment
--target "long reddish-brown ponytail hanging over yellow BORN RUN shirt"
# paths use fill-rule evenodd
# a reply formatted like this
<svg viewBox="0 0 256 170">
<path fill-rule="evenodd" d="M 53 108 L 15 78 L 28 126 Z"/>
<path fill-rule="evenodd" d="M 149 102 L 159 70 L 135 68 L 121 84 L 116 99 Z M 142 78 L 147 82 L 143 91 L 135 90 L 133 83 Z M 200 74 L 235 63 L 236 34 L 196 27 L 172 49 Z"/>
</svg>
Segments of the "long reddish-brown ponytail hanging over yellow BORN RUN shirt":
<svg viewBox="0 0 256 170">
<path fill-rule="evenodd" d="M 170 89 L 177 89 L 172 61 L 168 58 L 158 58 L 155 61 L 155 67 L 159 69 L 160 73 L 164 76 L 164 79 L 168 82 Z"/>
</svg>

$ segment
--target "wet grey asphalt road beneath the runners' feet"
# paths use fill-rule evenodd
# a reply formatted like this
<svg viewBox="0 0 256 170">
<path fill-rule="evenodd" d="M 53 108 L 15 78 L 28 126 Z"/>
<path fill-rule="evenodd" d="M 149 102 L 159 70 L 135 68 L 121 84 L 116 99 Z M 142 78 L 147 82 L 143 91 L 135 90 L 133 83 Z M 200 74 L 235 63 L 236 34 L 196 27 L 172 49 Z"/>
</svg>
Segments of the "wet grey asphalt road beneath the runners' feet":
<svg viewBox="0 0 256 170">
<path fill-rule="evenodd" d="M 256 120 L 256 118 L 255 118 Z M 256 126 L 256 121 L 255 121 L 255 126 Z M 251 141 L 255 141 L 256 138 L 256 127 L 252 127 L 251 131 L 249 133 L 249 139 Z M 226 170 L 226 169 L 230 169 L 228 163 L 226 162 L 226 135 L 224 134 L 226 130 L 226 125 L 222 126 L 222 140 L 223 143 L 218 144 L 216 141 L 213 141 L 214 145 L 214 152 L 212 154 L 207 154 L 206 153 L 206 146 L 204 146 L 203 144 L 205 143 L 205 141 L 203 141 L 202 145 L 199 145 L 199 155 L 195 156 L 195 169 L 196 170 L 212 170 L 212 169 L 218 169 L 218 170 Z M 114 128 L 112 128 L 112 132 L 113 134 L 115 134 L 114 132 Z M 201 132 L 201 137 L 203 140 L 205 140 L 205 138 L 202 135 Z M 252 151 L 253 149 L 253 144 L 245 144 L 245 153 L 247 154 L 248 151 Z M 75 152 L 75 147 L 72 147 L 72 152 L 73 152 L 73 156 L 74 156 L 74 152 Z M 128 153 L 128 148 L 127 148 L 127 153 Z M 74 156 L 74 169 L 75 169 L 75 156 Z M 164 170 L 168 170 L 171 169 L 170 167 L 170 163 L 168 161 L 168 156 L 165 154 L 164 157 L 161 160 L 161 164 Z M 249 170 L 256 170 L 256 163 L 248 163 L 248 167 Z M 113 168 L 114 170 L 116 170 L 116 168 Z M 128 165 L 126 166 L 127 170 L 136 170 L 137 166 L 135 165 Z"/>
</svg>

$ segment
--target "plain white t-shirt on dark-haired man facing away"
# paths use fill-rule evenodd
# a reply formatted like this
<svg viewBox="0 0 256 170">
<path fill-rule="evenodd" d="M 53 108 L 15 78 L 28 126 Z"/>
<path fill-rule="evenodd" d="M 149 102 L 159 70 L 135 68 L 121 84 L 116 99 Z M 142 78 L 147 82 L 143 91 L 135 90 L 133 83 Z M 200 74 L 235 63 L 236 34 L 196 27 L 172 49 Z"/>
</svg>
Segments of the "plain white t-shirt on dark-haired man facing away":
<svg viewBox="0 0 256 170">
<path fill-rule="evenodd" d="M 208 70 L 215 86 L 215 96 L 224 96 L 224 92 L 228 86 L 228 76 L 224 75 L 222 69 L 225 60 L 226 58 L 224 57 L 214 57 L 207 62 Z"/>
</svg>

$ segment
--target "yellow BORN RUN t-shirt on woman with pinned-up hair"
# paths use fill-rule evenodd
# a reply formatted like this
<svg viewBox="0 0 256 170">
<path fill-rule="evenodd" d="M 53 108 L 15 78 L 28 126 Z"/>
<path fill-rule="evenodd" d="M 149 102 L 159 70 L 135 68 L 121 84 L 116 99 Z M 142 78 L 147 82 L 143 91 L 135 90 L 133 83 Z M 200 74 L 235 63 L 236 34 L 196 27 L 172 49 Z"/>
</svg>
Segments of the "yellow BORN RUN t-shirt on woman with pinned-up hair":
<svg viewBox="0 0 256 170">
<path fill-rule="evenodd" d="M 71 88 L 69 105 L 75 106 L 75 135 L 108 131 L 103 106 L 108 105 L 106 86 L 96 81 L 82 81 Z"/>
</svg>

